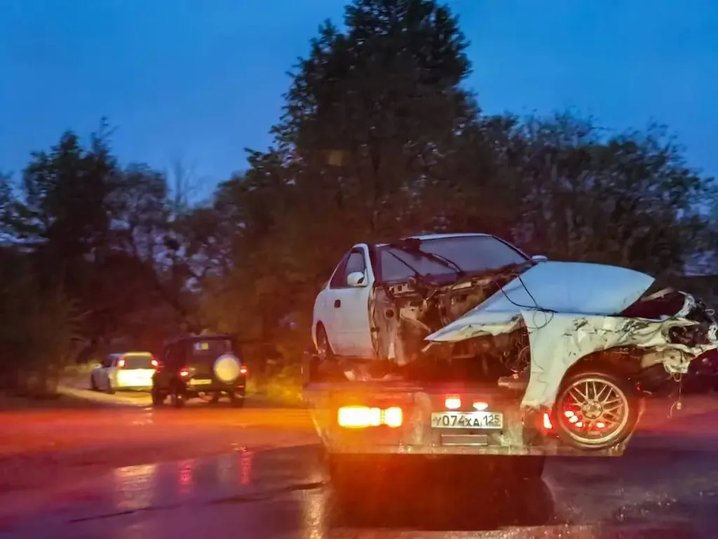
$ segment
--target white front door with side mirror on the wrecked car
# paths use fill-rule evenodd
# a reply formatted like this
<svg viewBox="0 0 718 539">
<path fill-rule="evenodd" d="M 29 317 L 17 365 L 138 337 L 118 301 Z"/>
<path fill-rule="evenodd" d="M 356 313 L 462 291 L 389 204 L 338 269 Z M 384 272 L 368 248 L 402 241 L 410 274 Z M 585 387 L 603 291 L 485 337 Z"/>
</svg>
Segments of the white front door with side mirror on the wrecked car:
<svg viewBox="0 0 718 539">
<path fill-rule="evenodd" d="M 348 277 L 355 272 L 362 272 L 364 279 L 359 284 L 350 284 Z M 374 354 L 369 321 L 369 295 L 373 284 L 374 272 L 369 262 L 368 247 L 353 247 L 341 278 L 330 283 L 339 337 L 335 352 L 340 356 L 370 358 Z"/>
</svg>

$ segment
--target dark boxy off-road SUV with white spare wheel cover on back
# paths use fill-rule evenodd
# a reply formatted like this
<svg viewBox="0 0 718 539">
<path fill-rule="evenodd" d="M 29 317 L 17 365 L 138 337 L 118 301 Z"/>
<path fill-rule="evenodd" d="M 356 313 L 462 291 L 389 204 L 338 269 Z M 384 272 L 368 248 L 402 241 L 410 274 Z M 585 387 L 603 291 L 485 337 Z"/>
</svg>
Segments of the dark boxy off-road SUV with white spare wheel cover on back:
<svg viewBox="0 0 718 539">
<path fill-rule="evenodd" d="M 230 335 L 184 336 L 164 348 L 152 377 L 152 404 L 169 397 L 174 407 L 202 397 L 217 402 L 224 394 L 233 406 L 244 405 L 247 367 Z"/>
</svg>

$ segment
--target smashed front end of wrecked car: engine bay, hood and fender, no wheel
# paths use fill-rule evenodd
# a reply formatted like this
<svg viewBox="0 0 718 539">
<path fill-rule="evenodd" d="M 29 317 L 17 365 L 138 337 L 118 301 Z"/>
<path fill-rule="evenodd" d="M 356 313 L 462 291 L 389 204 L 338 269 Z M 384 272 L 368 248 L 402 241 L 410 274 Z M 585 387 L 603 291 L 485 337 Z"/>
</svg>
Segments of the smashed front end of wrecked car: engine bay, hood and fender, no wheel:
<svg viewBox="0 0 718 539">
<path fill-rule="evenodd" d="M 553 404 L 578 361 L 602 361 L 650 387 L 718 349 L 714 312 L 701 300 L 602 264 L 526 261 L 438 283 L 417 275 L 375 285 L 369 317 L 379 361 L 350 377 L 408 379 L 420 364 L 468 361 L 523 391 L 531 409 Z"/>
</svg>

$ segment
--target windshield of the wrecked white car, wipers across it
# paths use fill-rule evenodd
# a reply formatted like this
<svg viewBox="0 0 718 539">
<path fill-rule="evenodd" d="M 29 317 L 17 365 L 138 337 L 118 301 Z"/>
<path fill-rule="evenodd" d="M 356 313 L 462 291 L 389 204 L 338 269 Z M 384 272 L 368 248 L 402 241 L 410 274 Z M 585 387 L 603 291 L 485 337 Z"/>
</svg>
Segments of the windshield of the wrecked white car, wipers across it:
<svg viewBox="0 0 718 539">
<path fill-rule="evenodd" d="M 382 280 L 406 280 L 414 275 L 414 270 L 420 275 L 456 275 L 455 268 L 452 269 L 453 264 L 467 274 L 476 274 L 527 260 L 523 254 L 494 236 L 426 239 L 421 241 L 419 249 L 451 263 L 386 245 L 379 248 Z"/>
</svg>

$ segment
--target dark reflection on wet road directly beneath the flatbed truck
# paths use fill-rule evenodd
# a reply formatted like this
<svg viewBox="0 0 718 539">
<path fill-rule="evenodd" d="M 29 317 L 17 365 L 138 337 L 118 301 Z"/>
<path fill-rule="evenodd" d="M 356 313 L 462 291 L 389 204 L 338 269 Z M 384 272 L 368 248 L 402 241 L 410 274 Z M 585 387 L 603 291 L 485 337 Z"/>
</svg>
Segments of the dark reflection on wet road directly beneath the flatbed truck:
<svg viewBox="0 0 718 539">
<path fill-rule="evenodd" d="M 510 480 L 440 463 L 382 467 L 351 485 L 330 482 L 299 499 L 306 539 L 344 537 L 349 530 L 348 536 L 360 538 L 378 530 L 384 537 L 400 530 L 482 532 L 565 523 L 542 479 Z"/>
</svg>

